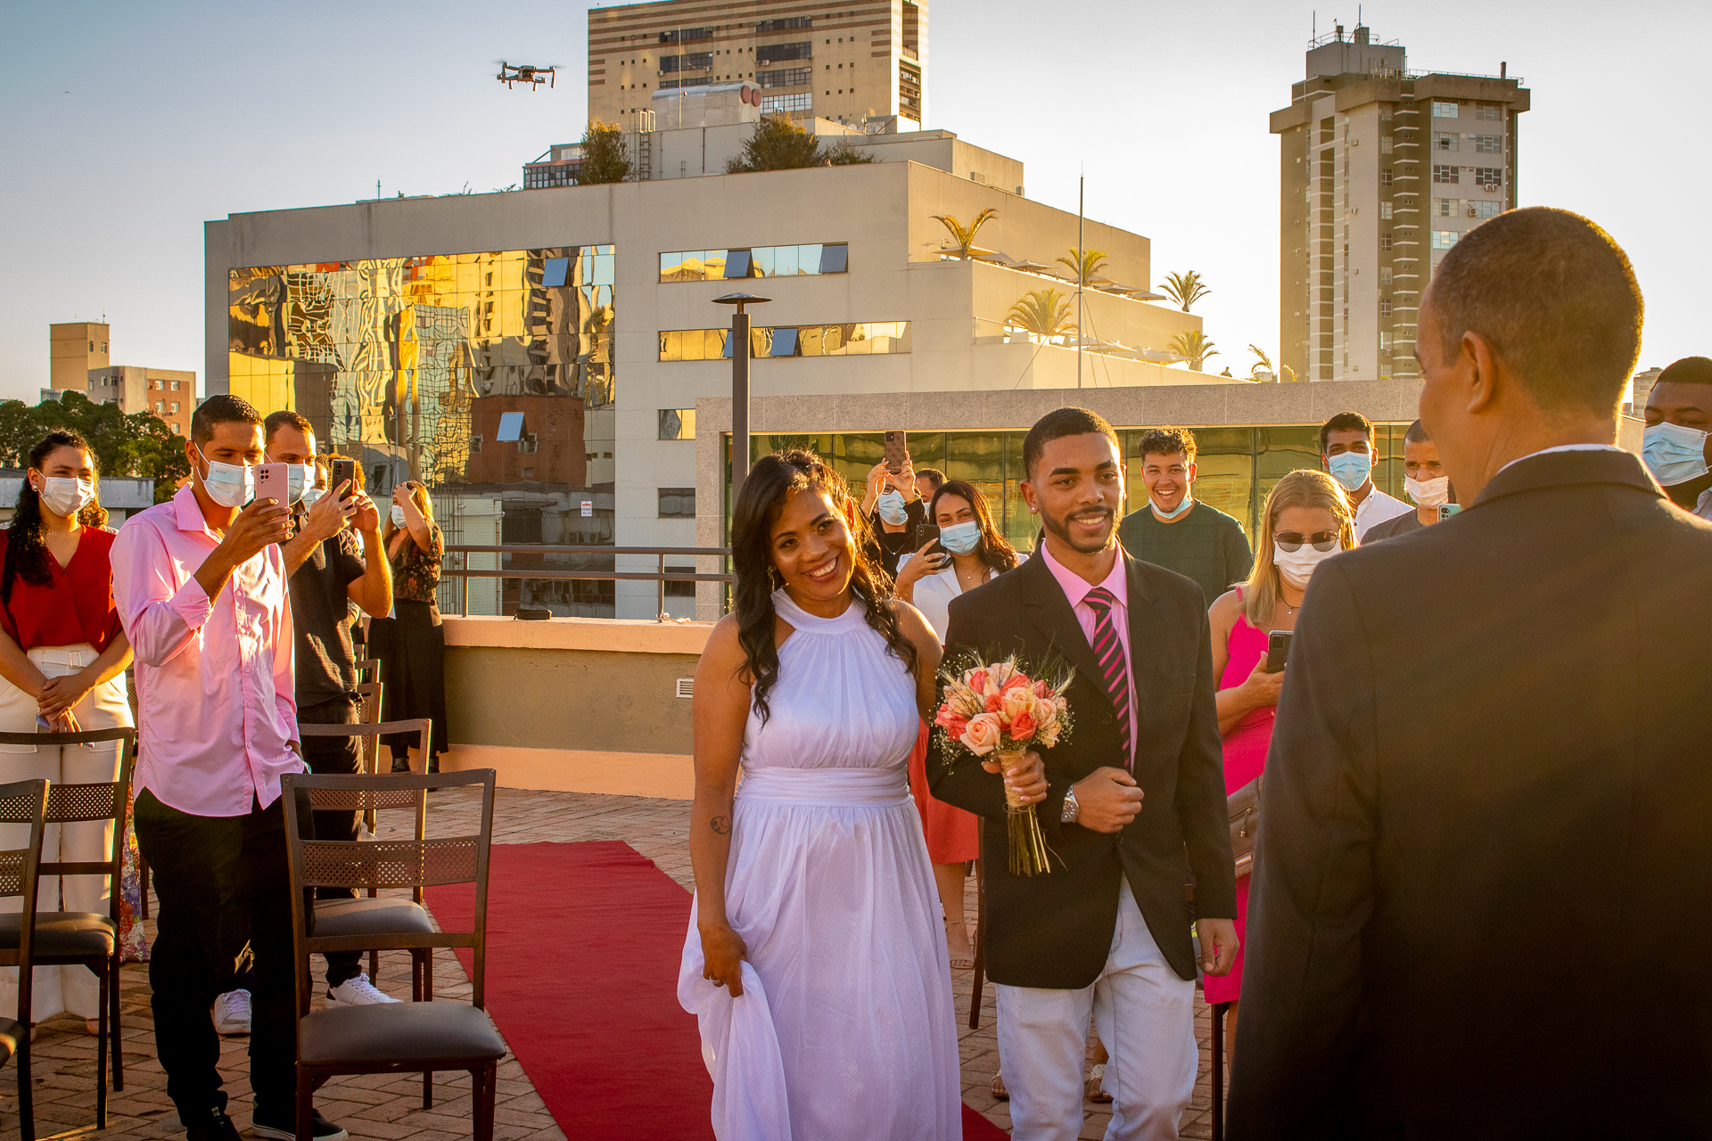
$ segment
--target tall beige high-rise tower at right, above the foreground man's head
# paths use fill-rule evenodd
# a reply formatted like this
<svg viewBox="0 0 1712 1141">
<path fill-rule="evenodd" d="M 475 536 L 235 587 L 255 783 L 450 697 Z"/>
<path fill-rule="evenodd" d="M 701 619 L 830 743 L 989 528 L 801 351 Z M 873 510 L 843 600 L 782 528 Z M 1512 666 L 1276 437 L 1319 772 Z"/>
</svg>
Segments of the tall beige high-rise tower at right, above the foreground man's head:
<svg viewBox="0 0 1712 1141">
<path fill-rule="evenodd" d="M 1445 250 L 1517 205 L 1507 75 L 1411 72 L 1342 26 L 1308 48 L 1279 137 L 1279 349 L 1296 380 L 1418 376 L 1421 293 Z"/>
</svg>

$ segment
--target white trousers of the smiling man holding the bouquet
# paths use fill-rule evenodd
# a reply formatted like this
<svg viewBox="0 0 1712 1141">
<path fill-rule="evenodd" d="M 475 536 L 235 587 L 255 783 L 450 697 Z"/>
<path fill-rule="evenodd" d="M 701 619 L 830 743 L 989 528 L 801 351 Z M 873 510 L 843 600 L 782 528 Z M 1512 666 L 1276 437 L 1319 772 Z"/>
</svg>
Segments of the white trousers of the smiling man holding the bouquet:
<svg viewBox="0 0 1712 1141">
<path fill-rule="evenodd" d="M 1082 1132 L 1089 1016 L 1111 1054 L 1106 1141 L 1178 1136 L 1200 1064 L 1195 980 L 1180 978 L 1166 963 L 1126 878 L 1118 891 L 1111 955 L 1092 985 L 996 990 L 998 1057 L 1015 1141 L 1073 1141 Z"/>
</svg>

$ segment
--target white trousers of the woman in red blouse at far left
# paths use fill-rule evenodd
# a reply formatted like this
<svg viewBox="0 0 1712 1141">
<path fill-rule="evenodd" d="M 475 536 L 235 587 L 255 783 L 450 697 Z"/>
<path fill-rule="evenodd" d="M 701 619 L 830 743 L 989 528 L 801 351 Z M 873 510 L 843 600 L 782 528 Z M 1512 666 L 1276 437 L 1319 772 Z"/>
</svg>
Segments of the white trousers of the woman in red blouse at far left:
<svg viewBox="0 0 1712 1141">
<path fill-rule="evenodd" d="M 74 647 L 36 647 L 29 660 L 48 677 L 75 674 L 96 660 L 87 641 Z M 0 677 L 0 732 L 36 732 L 36 698 Z M 130 701 L 125 676 L 91 689 L 72 706 L 82 729 L 116 729 L 130 725 Z M 67 785 L 94 785 L 118 780 L 120 742 L 98 746 L 36 748 L 0 744 L 0 783 L 46 778 Z M 29 826 L 0 825 L 0 848 L 29 843 Z M 106 860 L 113 857 L 113 821 L 79 821 L 50 825 L 41 838 L 41 859 L 55 862 Z M 104 876 L 43 876 L 36 898 L 38 912 L 108 913 L 108 879 Z M 21 896 L 0 898 L 0 912 L 17 912 Z M 0 1011 L 17 1009 L 17 967 L 0 968 Z M 70 1013 L 96 1018 L 101 1013 L 101 980 L 86 967 L 38 967 L 31 987 L 31 1021 L 45 1021 Z"/>
</svg>

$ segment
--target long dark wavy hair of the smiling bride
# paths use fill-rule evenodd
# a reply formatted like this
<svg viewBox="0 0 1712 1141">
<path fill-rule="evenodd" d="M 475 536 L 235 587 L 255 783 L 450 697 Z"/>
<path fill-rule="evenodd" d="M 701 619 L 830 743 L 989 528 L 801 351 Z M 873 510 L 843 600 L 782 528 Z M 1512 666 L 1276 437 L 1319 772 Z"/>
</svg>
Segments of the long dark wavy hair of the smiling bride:
<svg viewBox="0 0 1712 1141">
<path fill-rule="evenodd" d="M 892 578 L 870 554 L 868 525 L 856 510 L 844 477 L 813 452 L 793 448 L 764 455 L 743 481 L 731 518 L 738 643 L 743 647 L 743 672 L 755 684 L 755 708 L 762 724 L 772 712 L 767 693 L 779 681 L 779 648 L 774 645 L 777 612 L 772 592 L 782 582 L 772 563 L 772 525 L 779 520 L 784 501 L 798 491 L 823 491 L 832 501 L 832 510 L 844 517 L 849 525 L 851 594 L 863 606 L 863 621 L 885 638 L 889 652 L 911 676 L 916 672 L 916 643 L 904 636 L 897 614 L 887 606 L 892 597 Z"/>
</svg>

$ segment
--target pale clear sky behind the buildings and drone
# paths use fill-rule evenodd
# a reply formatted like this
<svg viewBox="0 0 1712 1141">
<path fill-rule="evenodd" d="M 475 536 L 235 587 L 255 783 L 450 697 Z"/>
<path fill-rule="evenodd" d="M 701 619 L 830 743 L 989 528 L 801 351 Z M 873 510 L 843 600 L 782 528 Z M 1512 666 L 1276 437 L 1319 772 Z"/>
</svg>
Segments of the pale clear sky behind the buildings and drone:
<svg viewBox="0 0 1712 1141">
<path fill-rule="evenodd" d="M 0 5 L 0 399 L 48 385 L 48 325 L 111 323 L 115 364 L 204 373 L 202 222 L 399 192 L 488 192 L 582 135 L 587 7 L 510 0 Z M 1532 89 L 1520 202 L 1628 251 L 1637 368 L 1712 356 L 1703 0 L 1366 3 L 1409 67 Z M 930 0 L 926 125 L 1022 159 L 1031 198 L 1152 239 L 1154 286 L 1200 270 L 1229 366 L 1277 359 L 1277 140 L 1311 29 L 1277 0 Z M 495 82 L 500 58 L 558 86 Z M 1140 284 L 1140 282 L 1137 282 Z"/>
</svg>

